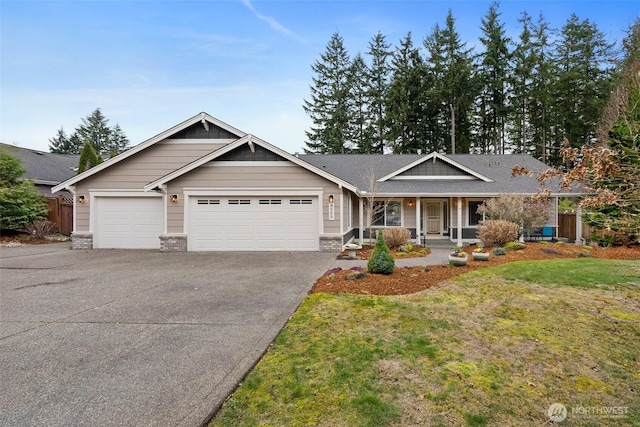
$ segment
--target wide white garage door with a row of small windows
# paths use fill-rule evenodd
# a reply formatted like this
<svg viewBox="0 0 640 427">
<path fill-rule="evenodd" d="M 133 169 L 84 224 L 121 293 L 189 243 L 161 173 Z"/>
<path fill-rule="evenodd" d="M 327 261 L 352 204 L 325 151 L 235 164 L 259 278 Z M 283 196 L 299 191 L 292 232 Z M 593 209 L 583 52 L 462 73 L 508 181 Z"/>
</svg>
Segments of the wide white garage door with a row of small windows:
<svg viewBox="0 0 640 427">
<path fill-rule="evenodd" d="M 317 197 L 189 198 L 191 251 L 317 251 Z"/>
</svg>

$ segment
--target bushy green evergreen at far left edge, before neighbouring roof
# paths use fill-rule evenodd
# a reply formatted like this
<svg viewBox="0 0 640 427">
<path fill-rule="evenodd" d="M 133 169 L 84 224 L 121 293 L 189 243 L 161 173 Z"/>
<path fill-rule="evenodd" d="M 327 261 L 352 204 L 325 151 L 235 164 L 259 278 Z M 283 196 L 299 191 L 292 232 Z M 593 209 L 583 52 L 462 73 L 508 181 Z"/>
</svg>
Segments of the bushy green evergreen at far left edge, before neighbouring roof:
<svg viewBox="0 0 640 427">
<path fill-rule="evenodd" d="M 24 173 L 20 160 L 0 149 L 0 230 L 20 230 L 47 217 L 44 196 L 32 181 L 23 179 Z"/>
</svg>

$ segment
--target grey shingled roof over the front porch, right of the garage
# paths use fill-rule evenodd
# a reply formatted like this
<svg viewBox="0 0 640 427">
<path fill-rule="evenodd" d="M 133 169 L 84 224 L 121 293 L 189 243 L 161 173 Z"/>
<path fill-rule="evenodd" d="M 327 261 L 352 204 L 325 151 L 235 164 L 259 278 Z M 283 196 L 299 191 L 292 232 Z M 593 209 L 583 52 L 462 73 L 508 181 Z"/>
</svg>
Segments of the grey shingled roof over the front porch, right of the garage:
<svg viewBox="0 0 640 427">
<path fill-rule="evenodd" d="M 526 154 L 505 155 L 419 155 L 419 154 L 329 154 L 300 155 L 300 159 L 335 175 L 366 192 L 374 171 L 376 194 L 387 196 L 492 196 L 501 193 L 535 194 L 543 189 L 535 177 L 512 177 L 513 167 L 542 171 L 547 165 Z M 401 176 L 423 162 L 442 161 L 458 168 L 457 176 Z M 463 174 L 465 178 L 460 179 Z M 547 186 L 559 194 L 556 185 Z M 563 193 L 566 194 L 566 193 Z"/>
</svg>

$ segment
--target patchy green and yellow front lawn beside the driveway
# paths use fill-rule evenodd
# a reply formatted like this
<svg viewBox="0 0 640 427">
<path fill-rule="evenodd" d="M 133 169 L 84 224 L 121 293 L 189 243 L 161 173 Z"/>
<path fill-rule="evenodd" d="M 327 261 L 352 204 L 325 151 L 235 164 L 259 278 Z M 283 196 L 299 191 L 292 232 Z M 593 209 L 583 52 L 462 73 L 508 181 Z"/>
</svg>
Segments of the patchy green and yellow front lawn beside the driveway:
<svg viewBox="0 0 640 427">
<path fill-rule="evenodd" d="M 410 296 L 310 295 L 212 425 L 543 425 L 554 402 L 563 425 L 640 425 L 639 276 L 571 259 Z"/>
</svg>

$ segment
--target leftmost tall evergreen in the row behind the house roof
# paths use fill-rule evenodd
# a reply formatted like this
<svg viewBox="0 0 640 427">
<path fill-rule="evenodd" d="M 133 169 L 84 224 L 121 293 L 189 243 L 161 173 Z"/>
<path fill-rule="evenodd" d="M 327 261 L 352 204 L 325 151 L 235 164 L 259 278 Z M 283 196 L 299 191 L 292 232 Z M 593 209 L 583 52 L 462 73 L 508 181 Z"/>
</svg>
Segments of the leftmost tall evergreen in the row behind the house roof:
<svg viewBox="0 0 640 427">
<path fill-rule="evenodd" d="M 344 40 L 334 33 L 320 60 L 311 69 L 313 77 L 311 100 L 304 100 L 304 110 L 313 124 L 306 131 L 305 152 L 347 153 L 349 135 L 349 71 L 351 60 L 344 47 Z"/>
</svg>

